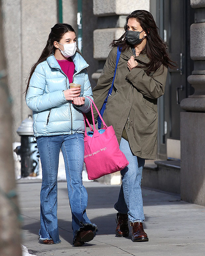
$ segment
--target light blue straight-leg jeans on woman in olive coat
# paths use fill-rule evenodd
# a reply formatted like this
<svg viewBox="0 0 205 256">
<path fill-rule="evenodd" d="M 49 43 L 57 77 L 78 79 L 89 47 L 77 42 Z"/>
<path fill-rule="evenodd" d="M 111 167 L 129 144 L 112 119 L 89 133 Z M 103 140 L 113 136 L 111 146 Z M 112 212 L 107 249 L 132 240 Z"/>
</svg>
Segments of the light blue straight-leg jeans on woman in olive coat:
<svg viewBox="0 0 205 256">
<path fill-rule="evenodd" d="M 120 150 L 125 154 L 129 165 L 121 171 L 122 185 L 114 208 L 119 213 L 128 214 L 130 222 L 143 222 L 141 180 L 145 159 L 133 155 L 129 142 L 124 138 L 121 138 Z"/>
</svg>

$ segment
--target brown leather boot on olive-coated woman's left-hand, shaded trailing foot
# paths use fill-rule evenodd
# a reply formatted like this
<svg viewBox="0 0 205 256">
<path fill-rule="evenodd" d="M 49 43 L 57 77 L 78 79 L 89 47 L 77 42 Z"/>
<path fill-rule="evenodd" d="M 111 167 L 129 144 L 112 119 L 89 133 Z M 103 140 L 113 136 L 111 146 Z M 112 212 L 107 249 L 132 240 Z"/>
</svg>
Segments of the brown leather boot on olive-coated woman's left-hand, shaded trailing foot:
<svg viewBox="0 0 205 256">
<path fill-rule="evenodd" d="M 129 235 L 128 215 L 117 213 L 115 220 L 117 223 L 117 227 L 115 231 L 116 236 L 119 236 L 119 237 L 128 236 Z"/>
</svg>

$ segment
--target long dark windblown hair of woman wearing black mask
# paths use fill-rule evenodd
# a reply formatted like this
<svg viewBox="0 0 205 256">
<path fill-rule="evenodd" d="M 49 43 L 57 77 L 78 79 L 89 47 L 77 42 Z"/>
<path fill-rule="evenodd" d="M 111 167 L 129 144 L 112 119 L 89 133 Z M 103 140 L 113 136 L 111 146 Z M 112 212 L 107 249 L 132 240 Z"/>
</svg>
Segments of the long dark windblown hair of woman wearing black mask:
<svg viewBox="0 0 205 256">
<path fill-rule="evenodd" d="M 126 50 L 129 47 L 129 43 L 126 40 L 126 31 L 127 31 L 127 23 L 130 18 L 135 18 L 140 26 L 143 28 L 146 33 L 146 45 L 143 51 L 146 52 L 147 57 L 149 58 L 149 63 L 140 62 L 143 67 L 146 68 L 146 74 L 150 74 L 151 72 L 155 72 L 161 64 L 166 66 L 167 68 L 175 68 L 176 63 L 173 62 L 166 51 L 168 47 L 167 44 L 159 37 L 158 31 L 159 29 L 156 26 L 153 16 L 150 12 L 145 10 L 137 10 L 132 12 L 126 18 L 126 23 L 124 26 L 124 34 L 118 39 L 113 40 L 110 44 L 111 47 L 119 46 L 122 48 L 122 51 Z M 136 66 L 136 68 L 142 67 Z"/>
</svg>

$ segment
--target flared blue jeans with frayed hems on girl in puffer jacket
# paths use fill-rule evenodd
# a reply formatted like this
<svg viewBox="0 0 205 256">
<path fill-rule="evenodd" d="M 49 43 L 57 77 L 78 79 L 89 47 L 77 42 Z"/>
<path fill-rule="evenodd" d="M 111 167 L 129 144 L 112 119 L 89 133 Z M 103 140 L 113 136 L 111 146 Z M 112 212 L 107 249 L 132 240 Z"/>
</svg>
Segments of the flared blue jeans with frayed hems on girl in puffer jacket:
<svg viewBox="0 0 205 256">
<path fill-rule="evenodd" d="M 57 219 L 57 175 L 59 153 L 62 150 L 67 190 L 72 213 L 73 242 L 80 229 L 97 232 L 86 214 L 88 194 L 82 183 L 84 160 L 84 136 L 81 133 L 70 135 L 40 136 L 36 138 L 42 165 L 42 185 L 40 193 L 40 240 L 59 238 Z"/>
</svg>

